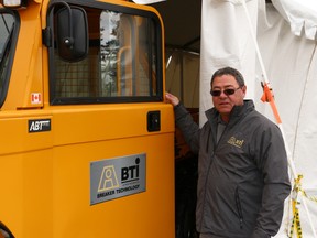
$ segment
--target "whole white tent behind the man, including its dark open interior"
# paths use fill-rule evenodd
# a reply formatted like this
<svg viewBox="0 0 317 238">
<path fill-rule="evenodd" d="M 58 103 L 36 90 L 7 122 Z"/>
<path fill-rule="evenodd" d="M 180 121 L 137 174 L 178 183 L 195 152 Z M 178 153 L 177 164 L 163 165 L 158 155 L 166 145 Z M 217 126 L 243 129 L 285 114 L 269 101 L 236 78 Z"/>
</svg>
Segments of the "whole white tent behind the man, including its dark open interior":
<svg viewBox="0 0 317 238">
<path fill-rule="evenodd" d="M 172 48 L 166 52 L 167 90 L 181 97 L 185 106 L 199 107 L 200 125 L 206 121 L 205 110 L 212 106 L 210 77 L 219 67 L 229 65 L 240 69 L 248 85 L 247 97 L 254 100 L 260 112 L 275 121 L 270 105 L 260 100 L 261 82 L 270 82 L 289 164 L 294 165 L 296 175 L 303 175 L 302 188 L 308 197 L 299 196 L 303 237 L 316 238 L 317 0 L 167 0 L 154 7 L 163 17 L 166 44 Z M 197 23 L 200 11 L 201 25 Z M 198 30 L 201 37 L 197 35 Z M 197 52 L 197 45 L 200 55 L 190 53 Z M 283 226 L 276 237 L 289 234 L 291 203 L 292 199 L 285 203 Z"/>
</svg>

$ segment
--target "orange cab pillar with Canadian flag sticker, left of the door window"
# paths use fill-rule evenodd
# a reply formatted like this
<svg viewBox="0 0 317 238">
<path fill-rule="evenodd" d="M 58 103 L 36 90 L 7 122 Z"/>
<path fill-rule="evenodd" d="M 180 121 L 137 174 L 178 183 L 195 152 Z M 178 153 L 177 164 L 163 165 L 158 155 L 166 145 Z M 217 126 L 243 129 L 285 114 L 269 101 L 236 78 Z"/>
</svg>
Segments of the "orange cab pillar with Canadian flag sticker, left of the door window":
<svg viewBox="0 0 317 238">
<path fill-rule="evenodd" d="M 2 110 L 39 108 L 43 106 L 41 4 L 30 2 L 28 11 L 19 11 L 20 32 L 7 99 Z M 41 100 L 31 102 L 32 94 Z"/>
</svg>

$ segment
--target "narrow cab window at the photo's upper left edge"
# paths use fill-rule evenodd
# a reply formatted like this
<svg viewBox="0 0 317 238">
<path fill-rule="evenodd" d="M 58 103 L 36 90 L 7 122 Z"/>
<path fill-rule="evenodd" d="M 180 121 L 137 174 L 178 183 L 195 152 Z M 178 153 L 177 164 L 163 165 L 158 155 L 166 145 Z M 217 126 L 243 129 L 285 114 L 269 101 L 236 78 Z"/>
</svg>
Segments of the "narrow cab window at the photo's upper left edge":
<svg viewBox="0 0 317 238">
<path fill-rule="evenodd" d="M 13 54 L 13 30 L 15 21 L 11 13 L 0 9 L 0 106 L 2 106 L 9 84 L 10 58 Z"/>
</svg>

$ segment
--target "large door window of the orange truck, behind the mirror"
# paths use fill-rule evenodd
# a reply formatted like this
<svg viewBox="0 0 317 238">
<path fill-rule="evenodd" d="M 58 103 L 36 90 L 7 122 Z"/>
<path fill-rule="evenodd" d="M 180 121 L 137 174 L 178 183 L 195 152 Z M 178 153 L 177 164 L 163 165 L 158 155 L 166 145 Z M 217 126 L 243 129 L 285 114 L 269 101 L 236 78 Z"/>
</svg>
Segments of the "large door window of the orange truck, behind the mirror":
<svg viewBox="0 0 317 238">
<path fill-rule="evenodd" d="M 108 6 L 108 4 L 107 4 Z M 156 15 L 85 8 L 89 53 L 79 62 L 50 54 L 51 104 L 141 102 L 163 100 L 161 25 Z M 143 14 L 142 14 L 143 13 Z M 157 44 L 158 43 L 158 44 Z"/>
</svg>

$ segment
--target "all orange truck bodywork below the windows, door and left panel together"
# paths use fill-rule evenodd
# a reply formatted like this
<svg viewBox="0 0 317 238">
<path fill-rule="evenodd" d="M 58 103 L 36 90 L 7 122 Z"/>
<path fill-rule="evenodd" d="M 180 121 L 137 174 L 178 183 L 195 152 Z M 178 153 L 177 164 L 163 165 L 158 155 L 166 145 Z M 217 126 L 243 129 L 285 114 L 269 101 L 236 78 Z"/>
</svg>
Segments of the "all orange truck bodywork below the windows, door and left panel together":
<svg viewBox="0 0 317 238">
<path fill-rule="evenodd" d="M 0 220 L 19 238 L 173 238 L 173 111 L 145 105 L 1 115 L 8 142 L 1 137 Z M 146 130 L 153 110 L 161 111 L 158 132 Z M 52 131 L 28 133 L 29 119 L 47 117 Z M 146 154 L 146 191 L 90 205 L 90 163 L 140 153 Z"/>
</svg>

